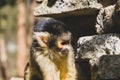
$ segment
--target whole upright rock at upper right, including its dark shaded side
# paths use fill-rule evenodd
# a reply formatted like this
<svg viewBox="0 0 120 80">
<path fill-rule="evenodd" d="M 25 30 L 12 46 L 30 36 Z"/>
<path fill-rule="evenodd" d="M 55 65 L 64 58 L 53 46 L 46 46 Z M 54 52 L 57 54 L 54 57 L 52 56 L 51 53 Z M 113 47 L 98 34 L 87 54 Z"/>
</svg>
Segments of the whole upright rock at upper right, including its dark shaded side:
<svg viewBox="0 0 120 80">
<path fill-rule="evenodd" d="M 96 19 L 96 32 L 120 33 L 120 0 L 116 4 L 100 9 Z"/>
</svg>

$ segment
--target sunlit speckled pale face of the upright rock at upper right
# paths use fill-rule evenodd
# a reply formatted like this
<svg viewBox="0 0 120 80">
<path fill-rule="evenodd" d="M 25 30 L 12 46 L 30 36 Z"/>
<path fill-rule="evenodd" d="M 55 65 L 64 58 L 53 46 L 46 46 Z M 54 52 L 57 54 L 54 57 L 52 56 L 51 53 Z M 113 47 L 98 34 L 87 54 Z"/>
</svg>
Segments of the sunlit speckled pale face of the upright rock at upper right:
<svg viewBox="0 0 120 80">
<path fill-rule="evenodd" d="M 113 26 L 112 16 L 115 11 L 115 5 L 100 9 L 96 18 L 96 32 L 98 34 L 108 33 Z"/>
</svg>

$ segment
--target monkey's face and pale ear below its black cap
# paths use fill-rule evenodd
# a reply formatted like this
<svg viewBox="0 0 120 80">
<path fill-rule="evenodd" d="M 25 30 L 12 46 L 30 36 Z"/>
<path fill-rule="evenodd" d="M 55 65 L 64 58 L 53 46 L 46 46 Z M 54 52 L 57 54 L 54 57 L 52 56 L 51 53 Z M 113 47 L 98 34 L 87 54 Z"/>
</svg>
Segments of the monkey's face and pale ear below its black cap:
<svg viewBox="0 0 120 80">
<path fill-rule="evenodd" d="M 33 43 L 36 41 L 38 44 L 36 47 L 46 48 L 46 50 L 50 50 L 53 53 L 57 53 L 58 55 L 64 57 L 68 55 L 71 47 L 71 33 L 65 32 L 57 37 L 54 34 L 50 34 L 48 32 L 34 32 L 33 34 Z M 54 39 L 53 39 L 54 38 Z"/>
</svg>

